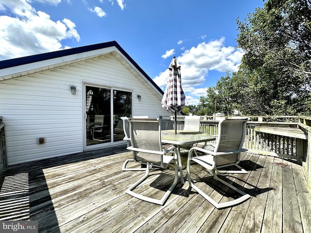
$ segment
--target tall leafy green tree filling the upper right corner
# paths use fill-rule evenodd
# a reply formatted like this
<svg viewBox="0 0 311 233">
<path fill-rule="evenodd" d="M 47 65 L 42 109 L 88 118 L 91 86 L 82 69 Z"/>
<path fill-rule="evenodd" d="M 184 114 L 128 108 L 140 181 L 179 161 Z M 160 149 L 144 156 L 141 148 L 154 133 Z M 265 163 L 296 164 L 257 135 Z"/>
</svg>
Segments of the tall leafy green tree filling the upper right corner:
<svg viewBox="0 0 311 233">
<path fill-rule="evenodd" d="M 268 0 L 237 23 L 245 51 L 232 77 L 245 88 L 236 93 L 239 107 L 260 115 L 310 114 L 311 0 Z"/>
</svg>

